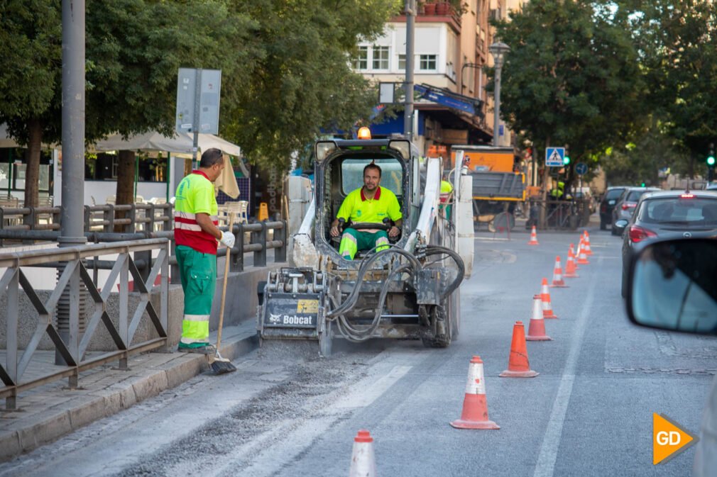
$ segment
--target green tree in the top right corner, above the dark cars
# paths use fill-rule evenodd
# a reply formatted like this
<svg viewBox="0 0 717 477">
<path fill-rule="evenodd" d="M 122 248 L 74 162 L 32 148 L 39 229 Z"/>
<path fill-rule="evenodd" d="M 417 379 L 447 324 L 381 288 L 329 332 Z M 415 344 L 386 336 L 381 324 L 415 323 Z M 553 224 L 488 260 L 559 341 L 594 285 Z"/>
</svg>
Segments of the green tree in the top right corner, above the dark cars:
<svg viewBox="0 0 717 477">
<path fill-rule="evenodd" d="M 647 100 L 689 151 L 686 173 L 717 143 L 717 6 L 698 0 L 624 1 L 640 51 Z M 673 164 L 674 165 L 674 164 Z"/>
</svg>

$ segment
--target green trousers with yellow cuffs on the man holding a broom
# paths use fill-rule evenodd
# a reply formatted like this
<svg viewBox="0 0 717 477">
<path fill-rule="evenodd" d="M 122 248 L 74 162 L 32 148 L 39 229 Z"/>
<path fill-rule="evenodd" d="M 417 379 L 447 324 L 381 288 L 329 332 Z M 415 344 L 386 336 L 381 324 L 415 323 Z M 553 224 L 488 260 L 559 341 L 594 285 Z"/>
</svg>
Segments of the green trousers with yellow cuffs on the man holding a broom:
<svg viewBox="0 0 717 477">
<path fill-rule="evenodd" d="M 179 347 L 206 346 L 209 344 L 209 315 L 212 314 L 217 284 L 217 256 L 180 245 L 176 248 L 176 257 L 184 290 L 184 319 Z"/>
</svg>

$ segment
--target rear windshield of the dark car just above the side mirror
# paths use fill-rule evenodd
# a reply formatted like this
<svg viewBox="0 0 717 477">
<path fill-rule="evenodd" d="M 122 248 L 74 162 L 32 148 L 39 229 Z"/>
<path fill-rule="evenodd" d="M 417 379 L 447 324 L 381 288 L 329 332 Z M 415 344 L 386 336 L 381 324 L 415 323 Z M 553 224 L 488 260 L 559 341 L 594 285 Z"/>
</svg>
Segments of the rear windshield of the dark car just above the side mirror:
<svg viewBox="0 0 717 477">
<path fill-rule="evenodd" d="M 655 198 L 642 203 L 640 221 L 717 225 L 717 198 Z"/>
</svg>

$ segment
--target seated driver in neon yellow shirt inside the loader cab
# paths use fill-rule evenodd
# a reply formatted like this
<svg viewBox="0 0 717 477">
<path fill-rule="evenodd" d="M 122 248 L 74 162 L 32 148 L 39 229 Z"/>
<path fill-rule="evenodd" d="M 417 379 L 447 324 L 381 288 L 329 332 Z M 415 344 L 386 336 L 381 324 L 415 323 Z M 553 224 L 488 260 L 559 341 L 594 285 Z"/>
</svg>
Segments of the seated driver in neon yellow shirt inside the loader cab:
<svg viewBox="0 0 717 477">
<path fill-rule="evenodd" d="M 401 233 L 401 206 L 396 195 L 389 189 L 381 187 L 381 168 L 370 163 L 364 168 L 364 187 L 351 191 L 343 200 L 336 213 L 336 220 L 331 223 L 331 236 L 338 237 L 338 219 L 347 223 L 383 223 L 384 218 L 394 221 L 388 232 L 379 229 L 346 228 L 341 236 L 338 254 L 346 260 L 353 260 L 359 250 L 373 249 L 376 251 L 389 248 L 389 237 L 397 237 Z"/>
</svg>

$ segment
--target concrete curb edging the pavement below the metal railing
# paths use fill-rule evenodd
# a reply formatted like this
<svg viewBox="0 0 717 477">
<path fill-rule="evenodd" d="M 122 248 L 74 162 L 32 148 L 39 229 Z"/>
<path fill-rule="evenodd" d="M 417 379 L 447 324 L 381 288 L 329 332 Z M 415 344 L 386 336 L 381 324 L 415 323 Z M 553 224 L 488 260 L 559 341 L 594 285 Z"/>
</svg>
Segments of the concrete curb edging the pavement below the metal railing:
<svg viewBox="0 0 717 477">
<path fill-rule="evenodd" d="M 251 326 L 246 326 L 250 324 Z M 233 336 L 223 337 L 220 352 L 229 360 L 245 355 L 258 347 L 254 323 L 244 324 L 235 330 Z M 224 331 L 225 333 L 227 330 Z M 142 367 L 145 365 L 146 367 Z M 209 370 L 204 355 L 190 355 L 181 352 L 147 353 L 133 360 L 138 375 L 120 380 L 116 371 L 101 370 L 95 378 L 99 388 L 72 390 L 76 393 L 70 401 L 60 405 L 47 403 L 47 409 L 24 418 L 20 417 L 11 425 L 0 428 L 0 462 L 9 461 L 41 445 L 61 438 L 83 426 L 130 408 L 136 403 L 158 395 L 160 392 L 180 385 L 182 382 Z M 103 385 L 103 376 L 105 382 Z M 114 374 L 114 375 L 113 375 Z M 80 377 L 82 386 L 82 377 Z M 98 387 L 95 385 L 94 387 Z M 57 392 L 55 388 L 54 392 Z M 13 418 L 14 413 L 0 414 L 1 418 Z"/>
</svg>

